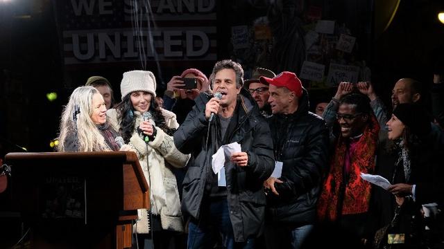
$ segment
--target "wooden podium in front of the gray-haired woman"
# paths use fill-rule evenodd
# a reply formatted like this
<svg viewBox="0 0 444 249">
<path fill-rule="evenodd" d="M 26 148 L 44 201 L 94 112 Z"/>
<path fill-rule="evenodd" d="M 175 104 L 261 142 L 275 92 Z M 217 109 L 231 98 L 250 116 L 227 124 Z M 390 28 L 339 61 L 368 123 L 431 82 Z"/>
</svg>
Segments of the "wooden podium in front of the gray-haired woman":
<svg viewBox="0 0 444 249">
<path fill-rule="evenodd" d="M 12 206 L 31 248 L 130 248 L 137 209 L 149 208 L 134 152 L 10 153 Z"/>
</svg>

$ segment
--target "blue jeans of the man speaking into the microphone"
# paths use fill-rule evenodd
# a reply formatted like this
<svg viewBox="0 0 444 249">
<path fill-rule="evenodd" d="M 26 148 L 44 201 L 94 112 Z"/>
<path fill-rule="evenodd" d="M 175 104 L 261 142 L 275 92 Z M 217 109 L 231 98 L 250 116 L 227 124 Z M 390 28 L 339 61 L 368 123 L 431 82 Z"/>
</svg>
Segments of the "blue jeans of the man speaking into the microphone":
<svg viewBox="0 0 444 249">
<path fill-rule="evenodd" d="M 188 248 L 213 248 L 219 241 L 223 248 L 254 248 L 254 239 L 235 242 L 227 199 L 210 201 L 202 205 L 200 221 L 191 220 L 188 225 Z"/>
</svg>

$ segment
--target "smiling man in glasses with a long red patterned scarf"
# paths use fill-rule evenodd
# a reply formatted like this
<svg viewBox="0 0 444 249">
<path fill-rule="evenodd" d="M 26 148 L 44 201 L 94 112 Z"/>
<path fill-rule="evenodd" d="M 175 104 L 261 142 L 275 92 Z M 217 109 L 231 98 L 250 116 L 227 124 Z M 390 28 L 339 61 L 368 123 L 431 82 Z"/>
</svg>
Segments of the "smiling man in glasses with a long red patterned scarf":
<svg viewBox="0 0 444 249">
<path fill-rule="evenodd" d="M 344 91 L 348 91 L 347 87 L 352 90 L 350 84 L 340 87 Z M 340 243 L 361 248 L 368 237 L 372 186 L 363 181 L 360 174 L 374 174 L 379 124 L 364 94 L 341 95 L 337 104 L 334 127 L 339 126 L 339 129 L 332 127 L 331 131 L 334 147 L 330 172 L 318 202 L 318 216 L 324 224 L 334 225 L 334 231 L 341 231 L 339 235 L 345 239 L 339 239 Z"/>
</svg>

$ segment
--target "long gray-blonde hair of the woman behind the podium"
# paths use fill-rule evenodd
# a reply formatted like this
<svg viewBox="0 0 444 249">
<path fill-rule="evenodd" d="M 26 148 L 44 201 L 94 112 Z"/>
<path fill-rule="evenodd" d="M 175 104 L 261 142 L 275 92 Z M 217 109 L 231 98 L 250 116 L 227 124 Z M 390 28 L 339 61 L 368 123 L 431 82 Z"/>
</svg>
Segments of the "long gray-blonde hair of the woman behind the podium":
<svg viewBox="0 0 444 249">
<path fill-rule="evenodd" d="M 62 112 L 60 120 L 60 136 L 58 137 L 58 151 L 65 151 L 66 139 L 76 136 L 76 128 L 72 114 L 75 106 L 80 107 L 80 113 L 77 116 L 77 135 L 78 151 L 109 151 L 110 147 L 106 144 L 96 124 L 91 119 L 92 97 L 99 93 L 93 86 L 79 86 L 69 97 L 69 102 Z M 99 93 L 100 94 L 100 93 Z"/>
</svg>

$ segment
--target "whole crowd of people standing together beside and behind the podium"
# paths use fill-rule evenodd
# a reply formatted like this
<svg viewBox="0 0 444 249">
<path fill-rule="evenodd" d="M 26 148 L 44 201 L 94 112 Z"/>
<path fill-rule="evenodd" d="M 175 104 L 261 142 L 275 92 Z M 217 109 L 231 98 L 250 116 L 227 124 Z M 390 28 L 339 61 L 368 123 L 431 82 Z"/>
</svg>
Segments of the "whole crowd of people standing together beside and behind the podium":
<svg viewBox="0 0 444 249">
<path fill-rule="evenodd" d="M 163 98 L 153 73 L 128 71 L 117 104 L 93 76 L 69 98 L 58 151 L 137 154 L 151 208 L 139 210 L 135 248 L 427 248 L 444 239 L 441 76 L 431 111 L 422 84 L 402 78 L 393 111 L 371 82 L 341 82 L 316 113 L 295 73 L 256 68 L 244 79 L 232 60 L 209 77 L 171 77 Z M 232 149 L 216 172 L 223 145 Z"/>
</svg>

